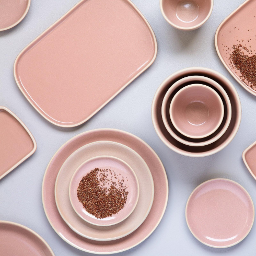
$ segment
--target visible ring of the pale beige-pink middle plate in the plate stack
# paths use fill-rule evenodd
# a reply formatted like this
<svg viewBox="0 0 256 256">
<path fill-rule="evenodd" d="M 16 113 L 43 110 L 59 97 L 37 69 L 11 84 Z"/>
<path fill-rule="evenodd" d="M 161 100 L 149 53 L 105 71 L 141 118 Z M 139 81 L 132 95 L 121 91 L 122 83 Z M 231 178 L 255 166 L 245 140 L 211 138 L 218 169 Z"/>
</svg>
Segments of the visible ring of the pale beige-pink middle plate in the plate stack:
<svg viewBox="0 0 256 256">
<path fill-rule="evenodd" d="M 116 225 L 99 227 L 85 222 L 76 214 L 68 192 L 71 178 L 83 162 L 106 155 L 123 159 L 131 166 L 138 178 L 139 198 L 134 211 L 125 220 Z M 98 141 L 77 149 L 62 165 L 55 183 L 55 201 L 61 217 L 78 235 L 95 241 L 111 241 L 131 234 L 148 216 L 153 199 L 154 181 L 147 164 L 134 150 L 116 142 Z"/>
</svg>

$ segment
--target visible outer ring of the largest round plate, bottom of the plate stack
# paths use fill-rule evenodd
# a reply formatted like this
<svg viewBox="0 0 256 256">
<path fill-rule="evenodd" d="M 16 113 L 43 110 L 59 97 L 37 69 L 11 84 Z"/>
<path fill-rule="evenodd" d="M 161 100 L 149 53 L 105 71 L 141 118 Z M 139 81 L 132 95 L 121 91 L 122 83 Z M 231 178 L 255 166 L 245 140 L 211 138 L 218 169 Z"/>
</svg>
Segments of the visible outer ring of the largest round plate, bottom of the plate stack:
<svg viewBox="0 0 256 256">
<path fill-rule="evenodd" d="M 132 234 L 115 241 L 96 242 L 77 235 L 66 225 L 55 204 L 55 179 L 64 161 L 78 148 L 96 141 L 114 141 L 131 147 L 145 160 L 154 179 L 154 202 L 147 218 Z M 165 213 L 168 200 L 168 181 L 165 168 L 159 157 L 142 139 L 120 130 L 92 130 L 75 136 L 57 150 L 44 174 L 42 200 L 44 211 L 50 224 L 67 243 L 79 250 L 91 253 L 117 253 L 135 247 L 156 229 Z"/>
</svg>

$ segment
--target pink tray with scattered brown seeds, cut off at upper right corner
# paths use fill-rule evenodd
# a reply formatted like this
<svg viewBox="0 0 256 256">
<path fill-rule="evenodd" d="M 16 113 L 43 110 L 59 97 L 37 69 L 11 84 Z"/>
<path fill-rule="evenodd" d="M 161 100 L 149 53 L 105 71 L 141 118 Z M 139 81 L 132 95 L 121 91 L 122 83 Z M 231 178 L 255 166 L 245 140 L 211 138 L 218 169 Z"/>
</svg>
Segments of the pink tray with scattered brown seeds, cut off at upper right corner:
<svg viewBox="0 0 256 256">
<path fill-rule="evenodd" d="M 215 46 L 237 82 L 256 96 L 256 1 L 247 0 L 219 25 Z"/>
</svg>

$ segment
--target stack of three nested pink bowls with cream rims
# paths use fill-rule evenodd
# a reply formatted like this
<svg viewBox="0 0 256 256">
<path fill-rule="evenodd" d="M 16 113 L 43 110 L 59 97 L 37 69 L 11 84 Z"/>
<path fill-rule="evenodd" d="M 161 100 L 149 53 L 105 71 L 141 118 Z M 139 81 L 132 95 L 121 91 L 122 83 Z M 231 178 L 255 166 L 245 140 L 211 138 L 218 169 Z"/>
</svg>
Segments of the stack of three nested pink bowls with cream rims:
<svg viewBox="0 0 256 256">
<path fill-rule="evenodd" d="M 208 68 L 186 68 L 158 88 L 152 120 L 161 140 L 186 156 L 219 152 L 236 135 L 241 104 L 232 84 Z"/>
</svg>

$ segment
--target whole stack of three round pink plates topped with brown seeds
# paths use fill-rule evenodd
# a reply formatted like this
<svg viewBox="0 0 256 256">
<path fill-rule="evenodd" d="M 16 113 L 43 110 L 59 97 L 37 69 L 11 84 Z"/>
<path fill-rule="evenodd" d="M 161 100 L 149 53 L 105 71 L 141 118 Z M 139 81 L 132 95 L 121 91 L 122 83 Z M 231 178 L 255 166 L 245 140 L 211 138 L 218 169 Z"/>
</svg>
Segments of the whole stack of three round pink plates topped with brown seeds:
<svg viewBox="0 0 256 256">
<path fill-rule="evenodd" d="M 119 130 L 72 138 L 50 161 L 42 186 L 52 227 L 72 246 L 115 253 L 145 240 L 165 212 L 168 182 L 156 153 Z"/>
</svg>

